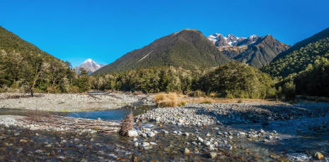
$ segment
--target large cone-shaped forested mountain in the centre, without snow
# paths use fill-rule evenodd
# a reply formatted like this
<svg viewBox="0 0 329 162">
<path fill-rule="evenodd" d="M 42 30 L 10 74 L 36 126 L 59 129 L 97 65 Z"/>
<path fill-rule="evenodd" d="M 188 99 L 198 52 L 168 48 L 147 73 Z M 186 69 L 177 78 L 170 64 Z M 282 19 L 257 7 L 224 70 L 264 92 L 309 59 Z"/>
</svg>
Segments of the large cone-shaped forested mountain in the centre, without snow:
<svg viewBox="0 0 329 162">
<path fill-rule="evenodd" d="M 197 30 L 181 30 L 156 39 L 142 49 L 125 54 L 117 61 L 100 68 L 93 75 L 120 72 L 152 66 L 206 68 L 229 63 L 230 59 Z"/>
</svg>

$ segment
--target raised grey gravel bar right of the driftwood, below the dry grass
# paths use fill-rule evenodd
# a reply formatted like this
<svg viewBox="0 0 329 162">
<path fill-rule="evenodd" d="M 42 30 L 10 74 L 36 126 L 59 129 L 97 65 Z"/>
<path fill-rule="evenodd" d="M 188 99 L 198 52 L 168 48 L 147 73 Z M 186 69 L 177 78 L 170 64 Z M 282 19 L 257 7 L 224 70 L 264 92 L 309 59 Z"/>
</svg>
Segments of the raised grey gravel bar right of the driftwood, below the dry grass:
<svg viewBox="0 0 329 162">
<path fill-rule="evenodd" d="M 195 104 L 175 108 L 154 108 L 137 116 L 137 123 L 173 125 L 214 125 L 233 123 L 262 123 L 271 120 L 290 120 L 325 116 L 329 104 Z"/>
</svg>

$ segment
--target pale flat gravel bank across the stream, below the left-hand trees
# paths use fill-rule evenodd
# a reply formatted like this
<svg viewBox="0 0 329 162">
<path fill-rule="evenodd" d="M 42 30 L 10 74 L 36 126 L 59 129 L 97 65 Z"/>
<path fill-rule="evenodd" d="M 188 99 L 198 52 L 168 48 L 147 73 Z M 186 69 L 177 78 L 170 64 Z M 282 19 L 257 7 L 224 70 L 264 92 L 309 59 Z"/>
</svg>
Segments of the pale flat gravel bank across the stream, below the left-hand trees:
<svg viewBox="0 0 329 162">
<path fill-rule="evenodd" d="M 98 111 L 121 108 L 136 102 L 151 104 L 153 96 L 146 94 L 35 94 L 37 97 L 13 97 L 23 94 L 0 93 L 0 108 L 23 108 L 39 111 Z M 17 98 L 17 99 L 16 99 Z"/>
</svg>

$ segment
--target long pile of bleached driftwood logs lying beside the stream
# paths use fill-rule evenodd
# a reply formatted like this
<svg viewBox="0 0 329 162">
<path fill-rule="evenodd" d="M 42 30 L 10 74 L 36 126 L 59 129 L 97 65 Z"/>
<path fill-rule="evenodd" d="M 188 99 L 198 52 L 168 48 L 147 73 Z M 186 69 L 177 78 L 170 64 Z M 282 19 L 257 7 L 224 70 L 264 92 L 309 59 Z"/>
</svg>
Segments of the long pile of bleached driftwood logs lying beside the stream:
<svg viewBox="0 0 329 162">
<path fill-rule="evenodd" d="M 93 120 L 85 118 L 69 118 L 64 116 L 40 116 L 39 118 L 25 118 L 25 123 L 39 125 L 40 129 L 44 127 L 62 127 L 70 130 L 96 130 L 97 132 L 117 133 L 120 130 L 120 123 Z"/>
</svg>

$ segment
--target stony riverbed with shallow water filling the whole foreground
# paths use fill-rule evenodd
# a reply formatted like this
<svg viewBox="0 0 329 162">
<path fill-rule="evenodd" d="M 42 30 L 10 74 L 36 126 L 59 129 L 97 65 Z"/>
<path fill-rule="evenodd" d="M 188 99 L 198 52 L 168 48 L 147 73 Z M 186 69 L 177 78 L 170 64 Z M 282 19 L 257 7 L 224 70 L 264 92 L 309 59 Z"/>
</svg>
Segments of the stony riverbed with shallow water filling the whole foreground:
<svg viewBox="0 0 329 162">
<path fill-rule="evenodd" d="M 135 118 L 130 137 L 0 116 L 0 161 L 329 161 L 328 111 L 325 103 L 153 108 Z"/>
</svg>

